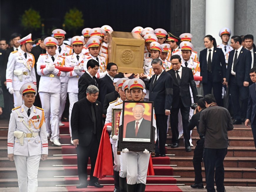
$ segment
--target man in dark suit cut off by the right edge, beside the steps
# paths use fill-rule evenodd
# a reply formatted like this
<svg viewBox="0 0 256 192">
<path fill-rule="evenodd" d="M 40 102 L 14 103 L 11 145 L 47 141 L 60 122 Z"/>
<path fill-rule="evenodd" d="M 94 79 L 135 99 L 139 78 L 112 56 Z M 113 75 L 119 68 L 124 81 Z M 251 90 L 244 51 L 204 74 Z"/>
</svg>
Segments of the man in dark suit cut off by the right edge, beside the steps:
<svg viewBox="0 0 256 192">
<path fill-rule="evenodd" d="M 249 87 L 249 99 L 248 99 L 248 107 L 247 107 L 247 119 L 245 121 L 245 126 L 249 127 L 249 123 L 251 123 L 252 134 L 254 139 L 254 145 L 256 148 L 256 67 L 253 67 L 250 70 L 250 78 L 253 82 Z M 256 167 L 255 167 L 256 168 Z"/>
</svg>

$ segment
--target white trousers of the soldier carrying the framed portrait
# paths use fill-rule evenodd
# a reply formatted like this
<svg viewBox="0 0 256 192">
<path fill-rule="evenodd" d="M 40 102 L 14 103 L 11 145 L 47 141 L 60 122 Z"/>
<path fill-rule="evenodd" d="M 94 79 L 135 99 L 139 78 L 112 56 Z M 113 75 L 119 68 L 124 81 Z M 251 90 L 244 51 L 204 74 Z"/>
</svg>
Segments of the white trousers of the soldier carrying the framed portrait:
<svg viewBox="0 0 256 192">
<path fill-rule="evenodd" d="M 150 153 L 129 151 L 125 153 L 127 163 L 127 184 L 146 184 Z"/>
</svg>

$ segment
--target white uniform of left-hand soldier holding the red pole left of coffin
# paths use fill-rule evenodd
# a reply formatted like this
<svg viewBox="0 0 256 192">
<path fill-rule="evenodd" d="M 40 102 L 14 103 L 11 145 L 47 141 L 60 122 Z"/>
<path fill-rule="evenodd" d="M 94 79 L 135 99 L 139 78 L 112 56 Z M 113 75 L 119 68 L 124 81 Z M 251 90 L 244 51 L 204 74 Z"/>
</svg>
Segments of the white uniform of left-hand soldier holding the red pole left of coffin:
<svg viewBox="0 0 256 192">
<path fill-rule="evenodd" d="M 65 61 L 65 59 L 56 56 L 56 54 L 54 57 L 55 59 L 53 61 L 49 54 L 41 54 L 36 63 L 37 74 L 41 75 L 38 92 L 42 107 L 45 110 L 46 130 L 48 133 L 52 133 L 51 140 L 59 139 L 60 77 L 65 77 L 66 74 L 56 68 L 53 72 L 48 72 L 46 68 L 40 69 L 40 67 L 41 65 L 60 65 Z"/>
</svg>

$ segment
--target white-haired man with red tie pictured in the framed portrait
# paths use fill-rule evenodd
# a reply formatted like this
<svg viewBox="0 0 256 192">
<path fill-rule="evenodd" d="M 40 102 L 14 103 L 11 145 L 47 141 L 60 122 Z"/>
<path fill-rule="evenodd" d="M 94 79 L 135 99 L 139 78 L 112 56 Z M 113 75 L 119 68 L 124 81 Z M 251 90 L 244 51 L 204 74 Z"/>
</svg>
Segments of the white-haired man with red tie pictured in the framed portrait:
<svg viewBox="0 0 256 192">
<path fill-rule="evenodd" d="M 150 139 L 151 122 L 144 119 L 145 108 L 142 105 L 135 105 L 132 108 L 134 121 L 127 123 L 125 138 Z"/>
</svg>

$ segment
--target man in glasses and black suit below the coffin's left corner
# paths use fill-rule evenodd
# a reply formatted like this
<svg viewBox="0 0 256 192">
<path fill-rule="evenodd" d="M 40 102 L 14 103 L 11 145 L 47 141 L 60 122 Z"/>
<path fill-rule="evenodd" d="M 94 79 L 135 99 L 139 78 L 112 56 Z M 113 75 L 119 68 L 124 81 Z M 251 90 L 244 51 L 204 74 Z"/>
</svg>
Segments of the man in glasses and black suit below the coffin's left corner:
<svg viewBox="0 0 256 192">
<path fill-rule="evenodd" d="M 107 64 L 107 75 L 100 79 L 99 81 L 99 90 L 100 90 L 100 97 L 99 101 L 103 105 L 104 98 L 107 94 L 115 91 L 115 87 L 113 86 L 114 76 L 118 72 L 117 64 L 115 63 L 108 63 Z"/>
</svg>

